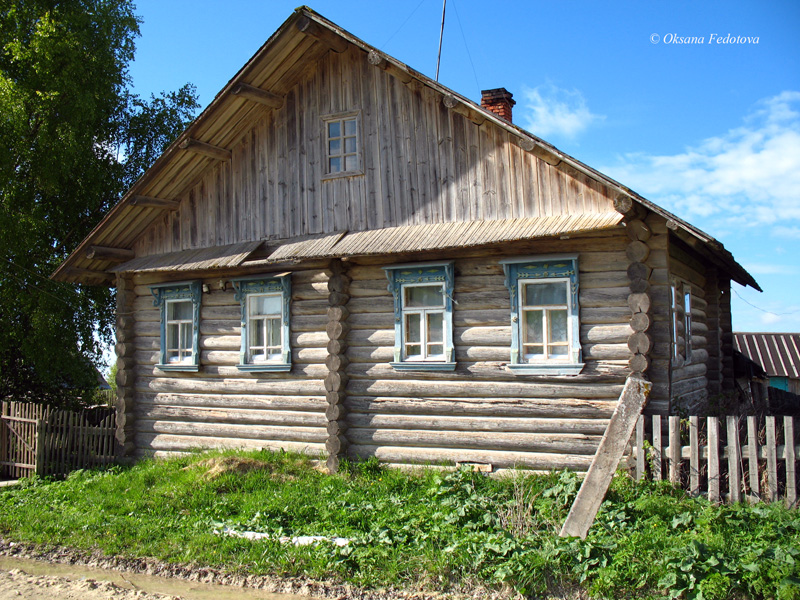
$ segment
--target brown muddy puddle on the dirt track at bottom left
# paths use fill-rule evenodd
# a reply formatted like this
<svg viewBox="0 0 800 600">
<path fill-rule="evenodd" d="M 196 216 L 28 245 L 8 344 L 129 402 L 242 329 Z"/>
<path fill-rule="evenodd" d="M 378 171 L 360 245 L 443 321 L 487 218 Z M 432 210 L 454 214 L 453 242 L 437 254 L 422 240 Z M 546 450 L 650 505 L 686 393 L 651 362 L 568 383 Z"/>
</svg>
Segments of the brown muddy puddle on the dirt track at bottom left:
<svg viewBox="0 0 800 600">
<path fill-rule="evenodd" d="M 158 593 L 180 596 L 183 600 L 318 600 L 315 596 L 299 594 L 275 594 L 262 590 L 223 586 L 211 583 L 199 583 L 184 579 L 172 579 L 157 575 L 144 575 L 127 571 L 100 569 L 82 565 L 50 563 L 27 558 L 16 558 L 0 555 L 0 570 L 19 569 L 33 576 L 64 577 L 71 580 L 94 579 L 108 581 L 121 588 L 142 590 L 147 593 Z"/>
</svg>

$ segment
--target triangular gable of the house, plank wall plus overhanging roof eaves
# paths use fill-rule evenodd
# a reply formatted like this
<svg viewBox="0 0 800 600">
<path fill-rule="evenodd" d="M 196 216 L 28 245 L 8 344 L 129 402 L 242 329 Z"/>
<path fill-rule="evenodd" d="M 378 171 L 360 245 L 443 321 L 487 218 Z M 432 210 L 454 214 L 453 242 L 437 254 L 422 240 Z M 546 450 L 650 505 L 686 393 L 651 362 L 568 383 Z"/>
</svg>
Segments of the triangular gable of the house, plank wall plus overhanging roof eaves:
<svg viewBox="0 0 800 600">
<path fill-rule="evenodd" d="M 346 121 L 355 157 L 331 173 L 328 128 Z M 54 277 L 102 281 L 120 253 L 631 204 L 741 269 L 713 238 L 301 7 Z"/>
</svg>

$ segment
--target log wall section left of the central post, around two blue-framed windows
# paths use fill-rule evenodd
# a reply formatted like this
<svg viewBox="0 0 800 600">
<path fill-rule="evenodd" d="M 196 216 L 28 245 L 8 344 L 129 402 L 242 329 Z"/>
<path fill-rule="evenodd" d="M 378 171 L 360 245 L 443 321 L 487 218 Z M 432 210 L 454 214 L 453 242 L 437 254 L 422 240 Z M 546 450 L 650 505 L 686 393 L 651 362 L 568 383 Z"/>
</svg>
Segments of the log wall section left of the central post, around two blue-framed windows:
<svg viewBox="0 0 800 600">
<path fill-rule="evenodd" d="M 322 455 L 327 437 L 323 379 L 327 338 L 327 271 L 292 275 L 291 373 L 240 371 L 241 312 L 230 283 L 204 280 L 200 371 L 158 370 L 160 312 L 154 276 L 134 278 L 136 454 L 199 447 L 285 448 Z"/>
</svg>

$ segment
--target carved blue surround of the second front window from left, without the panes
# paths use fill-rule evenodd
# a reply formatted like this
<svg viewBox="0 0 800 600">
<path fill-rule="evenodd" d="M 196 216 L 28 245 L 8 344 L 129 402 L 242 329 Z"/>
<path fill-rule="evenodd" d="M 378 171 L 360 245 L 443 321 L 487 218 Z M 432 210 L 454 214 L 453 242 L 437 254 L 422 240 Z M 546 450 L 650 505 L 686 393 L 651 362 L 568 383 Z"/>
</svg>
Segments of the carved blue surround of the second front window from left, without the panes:
<svg viewBox="0 0 800 600">
<path fill-rule="evenodd" d="M 251 372 L 281 372 L 292 369 L 292 350 L 289 340 L 289 322 L 291 319 L 292 303 L 292 276 L 290 273 L 281 275 L 259 276 L 259 277 L 239 277 L 231 279 L 231 284 L 235 290 L 234 298 L 241 305 L 242 314 L 242 340 L 239 350 L 240 371 Z M 281 294 L 282 314 L 281 314 L 281 349 L 280 363 L 252 364 L 247 362 L 247 296 L 249 294 Z"/>
</svg>

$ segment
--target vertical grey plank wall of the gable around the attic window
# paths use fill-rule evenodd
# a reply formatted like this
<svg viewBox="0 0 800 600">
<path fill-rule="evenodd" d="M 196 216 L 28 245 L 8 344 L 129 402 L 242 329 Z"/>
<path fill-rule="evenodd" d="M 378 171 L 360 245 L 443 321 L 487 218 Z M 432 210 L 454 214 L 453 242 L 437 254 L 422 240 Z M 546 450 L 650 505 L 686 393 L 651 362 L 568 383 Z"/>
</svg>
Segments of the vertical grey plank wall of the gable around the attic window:
<svg viewBox="0 0 800 600">
<path fill-rule="evenodd" d="M 359 111 L 362 175 L 324 175 L 322 117 Z M 331 231 L 607 212 L 608 190 L 477 125 L 443 97 L 330 52 L 165 211 L 137 256 Z"/>
</svg>

